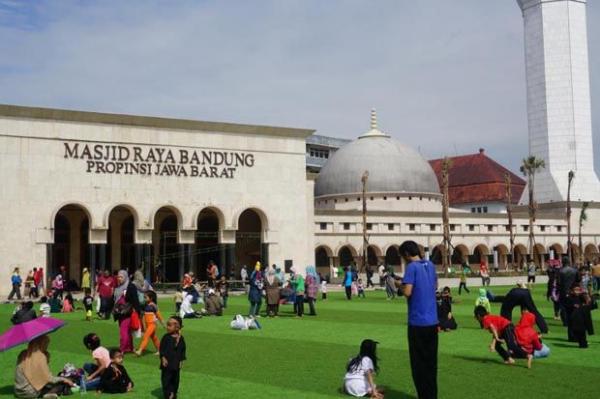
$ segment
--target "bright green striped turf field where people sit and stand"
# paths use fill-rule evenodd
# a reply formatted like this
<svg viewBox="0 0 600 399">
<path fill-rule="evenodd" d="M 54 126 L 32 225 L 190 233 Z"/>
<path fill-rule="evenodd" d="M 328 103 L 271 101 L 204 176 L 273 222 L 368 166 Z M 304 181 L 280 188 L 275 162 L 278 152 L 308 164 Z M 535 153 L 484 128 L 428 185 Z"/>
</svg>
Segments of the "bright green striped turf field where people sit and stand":
<svg viewBox="0 0 600 399">
<path fill-rule="evenodd" d="M 600 373 L 600 339 L 589 337 L 590 348 L 579 349 L 566 340 L 566 330 L 552 319 L 551 304 L 543 297 L 544 286 L 534 289 L 534 299 L 550 326 L 544 342 L 552 353 L 535 360 L 531 370 L 525 361 L 502 364 L 489 352 L 491 336 L 472 317 L 477 289 L 458 296 L 454 314 L 457 331 L 440 334 L 438 386 L 440 398 L 562 398 L 596 397 Z M 496 294 L 508 288 L 492 287 Z M 223 317 L 185 320 L 183 334 L 187 357 L 180 386 L 181 398 L 340 398 L 344 367 L 361 340 L 380 342 L 380 372 L 376 383 L 386 398 L 414 398 L 406 339 L 406 301 L 387 301 L 382 291 L 367 292 L 366 299 L 346 301 L 342 293 L 330 293 L 317 303 L 318 316 L 292 317 L 291 305 L 281 307 L 281 317 L 262 317 L 262 330 L 233 331 L 229 322 L 236 313 L 246 314 L 245 296 L 230 297 Z M 173 310 L 169 299 L 160 301 L 166 316 Z M 0 306 L 0 330 L 10 323 L 13 305 Z M 36 304 L 36 309 L 38 308 Z M 306 307 L 308 309 L 308 307 Z M 492 304 L 494 313 L 498 304 Z M 592 317 L 598 319 L 598 312 Z M 51 335 L 51 368 L 57 373 L 67 363 L 81 366 L 91 360 L 82 338 L 100 335 L 104 346 L 118 346 L 118 329 L 112 321 L 84 321 L 83 311 L 58 315 L 68 325 Z M 518 321 L 518 310 L 514 320 Z M 600 323 L 595 322 L 596 331 Z M 164 330 L 159 328 L 159 336 Z M 136 346 L 139 340 L 136 340 Z M 150 344 L 153 351 L 152 344 Z M 0 397 L 12 397 L 16 356 L 20 348 L 0 354 Z M 130 398 L 160 398 L 158 358 L 149 352 L 138 358 L 127 355 L 125 367 L 135 382 Z M 93 395 L 93 393 L 88 393 Z M 111 396 L 111 395 L 103 395 Z"/>
</svg>

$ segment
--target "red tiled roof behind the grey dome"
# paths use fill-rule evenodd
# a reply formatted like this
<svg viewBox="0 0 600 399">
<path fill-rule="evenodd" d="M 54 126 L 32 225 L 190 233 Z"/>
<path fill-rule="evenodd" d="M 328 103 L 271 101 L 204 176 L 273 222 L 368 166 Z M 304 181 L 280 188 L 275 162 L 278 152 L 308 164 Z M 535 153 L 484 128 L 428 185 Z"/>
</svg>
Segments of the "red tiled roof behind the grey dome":
<svg viewBox="0 0 600 399">
<path fill-rule="evenodd" d="M 512 179 L 512 203 L 516 204 L 525 189 L 525 180 L 489 158 L 483 150 L 478 154 L 451 157 L 448 194 L 450 204 L 504 202 L 504 175 Z M 442 159 L 429 161 L 441 186 Z"/>
</svg>

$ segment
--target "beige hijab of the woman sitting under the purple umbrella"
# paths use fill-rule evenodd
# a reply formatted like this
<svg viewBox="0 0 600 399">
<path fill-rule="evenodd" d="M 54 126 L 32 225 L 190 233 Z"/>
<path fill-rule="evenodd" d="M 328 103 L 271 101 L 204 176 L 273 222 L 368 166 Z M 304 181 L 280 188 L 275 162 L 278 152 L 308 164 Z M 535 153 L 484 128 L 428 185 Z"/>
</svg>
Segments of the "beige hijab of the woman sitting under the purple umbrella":
<svg viewBox="0 0 600 399">
<path fill-rule="evenodd" d="M 36 391 L 41 391 L 46 384 L 52 381 L 52 373 L 48 367 L 48 343 L 47 335 L 42 335 L 31 341 L 19 355 L 19 365 L 25 378 Z"/>
</svg>

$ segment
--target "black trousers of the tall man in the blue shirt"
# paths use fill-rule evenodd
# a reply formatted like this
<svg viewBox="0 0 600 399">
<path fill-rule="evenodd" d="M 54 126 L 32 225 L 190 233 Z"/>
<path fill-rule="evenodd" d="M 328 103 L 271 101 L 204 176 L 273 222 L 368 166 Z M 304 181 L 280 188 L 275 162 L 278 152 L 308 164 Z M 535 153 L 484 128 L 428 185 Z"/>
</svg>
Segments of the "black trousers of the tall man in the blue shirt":
<svg viewBox="0 0 600 399">
<path fill-rule="evenodd" d="M 408 326 L 408 351 L 419 399 L 437 398 L 438 326 Z"/>
</svg>

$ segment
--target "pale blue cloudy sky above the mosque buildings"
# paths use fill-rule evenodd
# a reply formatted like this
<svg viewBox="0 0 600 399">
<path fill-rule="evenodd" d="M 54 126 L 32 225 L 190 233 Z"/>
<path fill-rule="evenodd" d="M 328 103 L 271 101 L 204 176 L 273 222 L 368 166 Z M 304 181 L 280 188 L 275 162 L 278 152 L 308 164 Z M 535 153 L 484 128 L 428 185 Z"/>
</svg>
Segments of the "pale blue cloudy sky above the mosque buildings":
<svg viewBox="0 0 600 399">
<path fill-rule="evenodd" d="M 600 4 L 588 2 L 600 166 Z M 0 0 L 0 103 L 306 127 L 380 126 L 427 158 L 527 153 L 514 0 Z"/>
</svg>

